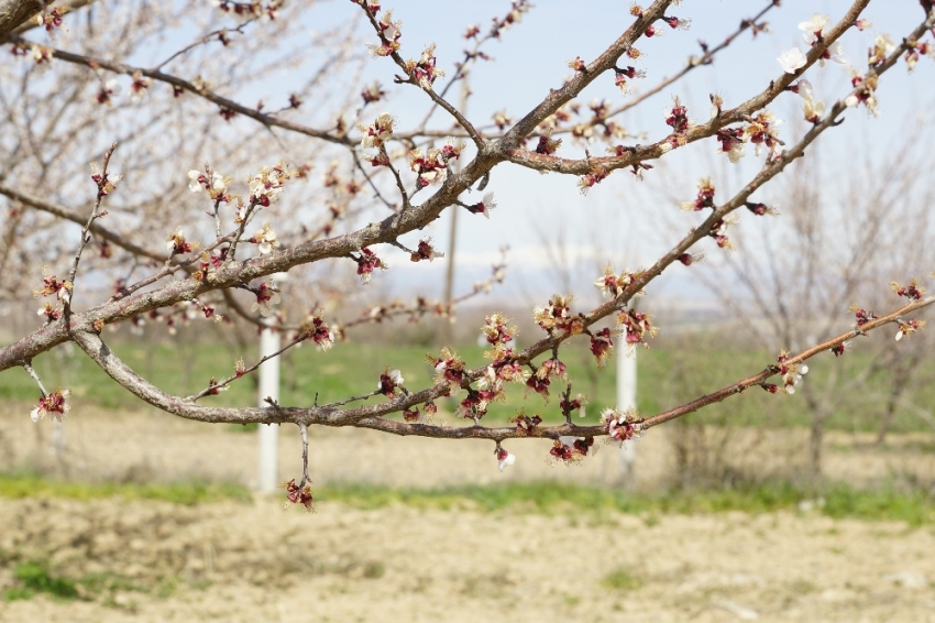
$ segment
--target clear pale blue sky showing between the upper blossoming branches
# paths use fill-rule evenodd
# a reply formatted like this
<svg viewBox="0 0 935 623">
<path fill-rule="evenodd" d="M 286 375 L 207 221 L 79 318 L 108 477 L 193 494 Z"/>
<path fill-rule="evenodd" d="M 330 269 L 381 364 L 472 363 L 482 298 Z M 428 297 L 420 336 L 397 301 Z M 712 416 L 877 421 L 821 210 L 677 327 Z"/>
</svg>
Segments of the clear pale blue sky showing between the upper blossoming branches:
<svg viewBox="0 0 935 623">
<path fill-rule="evenodd" d="M 636 80 L 635 86 L 650 87 L 680 69 L 688 55 L 697 52 L 697 40 L 712 45 L 719 43 L 741 19 L 751 17 L 765 6 L 766 2 L 754 0 L 688 0 L 673 8 L 670 14 L 692 20 L 691 30 L 682 32 L 667 29 L 664 36 L 640 40 L 638 46 L 645 57 L 637 65 L 646 69 L 648 75 L 642 80 Z M 647 132 L 649 140 L 654 141 L 668 133 L 663 109 L 671 106 L 672 95 L 679 95 L 688 105 L 690 117 L 698 121 L 705 121 L 708 117 L 710 92 L 722 95 L 726 106 L 739 103 L 780 75 L 782 69 L 777 57 L 782 51 L 793 46 L 806 50 L 801 39 L 802 32 L 796 28 L 800 22 L 807 20 L 815 11 L 831 15 L 834 22 L 849 6 L 850 2 L 843 1 L 783 1 L 780 8 L 770 11 L 766 18 L 770 33 L 760 34 L 756 40 L 745 33 L 718 55 L 714 66 L 696 69 L 688 79 L 625 113 L 623 123 L 632 133 Z M 452 73 L 453 62 L 465 47 L 461 35 L 466 26 L 476 23 L 483 30 L 492 17 L 503 14 L 507 7 L 508 2 L 499 0 L 442 1 L 431 3 L 430 8 L 425 2 L 405 0 L 384 4 L 384 8 L 394 10 L 395 19 L 403 21 L 403 56 L 417 57 L 425 44 L 435 42 L 438 45 L 436 55 L 439 67 L 449 73 Z M 473 96 L 468 107 L 469 117 L 483 124 L 490 121 L 493 112 L 501 109 L 513 117 L 521 116 L 540 101 L 549 88 L 561 86 L 562 79 L 571 73 L 568 61 L 575 56 L 590 61 L 619 36 L 630 21 L 629 7 L 629 2 L 619 0 L 574 2 L 573 8 L 568 2 L 537 2 L 520 24 L 506 31 L 501 41 L 490 42 L 484 47 L 495 61 L 482 62 L 472 72 Z M 886 12 L 882 11 L 883 7 Z M 350 19 L 354 9 L 350 2 L 327 3 L 321 9 L 321 24 Z M 866 66 L 866 50 L 877 34 L 888 33 L 899 41 L 922 21 L 923 12 L 915 0 L 878 0 L 871 3 L 867 17 L 873 22 L 873 28 L 864 33 L 850 32 L 843 41 L 844 56 L 857 67 Z M 382 108 L 374 109 L 374 113 L 389 111 L 397 118 L 399 127 L 405 129 L 421 119 L 426 98 L 418 89 L 393 85 L 395 69 L 391 61 L 374 58 L 367 63 L 365 72 L 367 80 L 380 79 L 384 86 L 392 88 L 392 98 L 377 105 Z M 815 67 L 806 77 L 815 86 L 821 99 L 833 101 L 846 95 L 849 88 L 847 67 L 835 63 L 828 63 L 824 68 Z M 598 79 L 596 85 L 585 91 L 582 102 L 586 103 L 593 97 L 604 97 L 613 105 L 622 103 L 624 98 L 612 83 L 612 76 Z M 854 145 L 872 144 L 873 149 L 881 149 L 881 155 L 886 157 L 886 147 L 890 142 L 888 136 L 902 131 L 906 123 L 931 124 L 933 84 L 935 63 L 932 59 L 922 59 L 913 75 L 908 75 L 904 65 L 895 67 L 881 80 L 880 118 L 869 118 L 862 108 L 848 111 L 844 128 L 822 136 L 823 149 L 827 150 L 826 153 L 835 154 L 834 160 L 838 163 L 846 163 Z M 457 89 L 454 92 L 452 99 L 457 101 Z M 771 110 L 781 119 L 789 119 L 791 114 L 801 117 L 801 99 L 788 94 Z M 448 125 L 443 117 L 436 116 L 435 119 L 439 120 L 439 127 Z M 788 122 L 783 138 L 789 140 L 792 135 L 793 124 Z M 724 168 L 718 161 L 724 156 L 714 157 L 715 146 L 713 141 L 706 141 L 663 159 L 662 166 L 667 167 L 666 190 L 681 197 L 681 200 L 693 198 L 700 175 L 716 175 Z M 603 150 L 601 143 L 592 146 L 595 153 Z M 560 154 L 565 157 L 583 155 L 581 147 L 568 139 Z M 727 186 L 725 190 L 732 186 L 736 188 L 749 179 L 761 165 L 762 156 L 757 159 L 752 150 L 748 150 L 748 155 L 740 164 L 732 165 L 735 170 L 733 173 L 737 175 L 733 179 L 722 181 Z M 546 253 L 541 250 L 540 236 L 536 231 L 537 223 L 539 229 L 553 232 L 563 230 L 572 251 L 594 258 L 595 264 L 605 258 L 631 263 L 634 267 L 636 264 L 648 264 L 664 245 L 671 244 L 683 233 L 667 231 L 666 227 L 653 225 L 659 211 L 667 211 L 667 216 L 674 219 L 680 218 L 674 203 L 667 203 L 658 192 L 651 192 L 659 188 L 662 178 L 654 171 L 647 175 L 646 182 L 639 183 L 629 172 L 619 171 L 583 197 L 575 186 L 574 177 L 543 176 L 519 167 L 501 165 L 494 170 L 487 188 L 494 190 L 499 206 L 493 217 L 487 220 L 463 210 L 459 216 L 459 274 L 468 277 L 460 280 L 461 287 L 466 287 L 471 278 L 482 275 L 485 266 L 496 259 L 498 248 L 504 244 L 512 248 L 514 281 L 524 271 L 535 273 L 537 269 L 548 265 Z M 766 198 L 771 198 L 769 192 L 766 192 Z M 465 200 L 472 198 L 465 197 Z M 685 229 L 698 220 L 694 216 L 682 215 Z M 427 230 L 440 249 L 448 247 L 448 219 L 446 215 Z M 711 249 L 705 251 L 711 252 Z M 407 265 L 402 260 L 392 263 L 393 269 L 398 269 L 393 278 L 415 278 L 421 284 L 435 282 L 439 284 L 440 291 L 443 271 L 441 262 L 435 262 L 431 266 L 425 263 Z M 399 273 L 406 274 L 404 276 Z"/>
</svg>

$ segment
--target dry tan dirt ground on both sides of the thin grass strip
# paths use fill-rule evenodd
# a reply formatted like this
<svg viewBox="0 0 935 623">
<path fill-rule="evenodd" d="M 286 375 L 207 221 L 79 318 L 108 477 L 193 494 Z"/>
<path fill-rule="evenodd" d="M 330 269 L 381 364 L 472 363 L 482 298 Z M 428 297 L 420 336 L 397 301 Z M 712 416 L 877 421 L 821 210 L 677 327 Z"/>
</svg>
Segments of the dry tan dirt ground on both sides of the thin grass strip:
<svg viewBox="0 0 935 623">
<path fill-rule="evenodd" d="M 76 479 L 251 483 L 254 435 L 152 413 L 82 409 L 51 450 L 53 427 L 28 407 L 0 413 L 0 469 L 38 462 Z M 780 434 L 777 434 L 780 435 Z M 794 460 L 788 452 L 751 460 Z M 298 435 L 280 435 L 283 478 L 298 476 Z M 912 439 L 871 450 L 835 435 L 828 471 L 849 481 L 935 474 Z M 917 445 L 917 444 L 916 444 Z M 488 447 L 490 446 L 490 447 Z M 344 480 L 432 487 L 504 480 L 623 485 L 605 447 L 582 467 L 548 467 L 548 445 L 514 442 L 496 470 L 492 444 L 315 430 L 316 484 Z M 772 446 L 778 447 L 776 445 Z M 639 444 L 629 485 L 670 467 L 664 431 Z M 57 466 L 57 468 L 56 468 Z M 317 512 L 280 499 L 195 507 L 161 502 L 0 500 L 0 554 L 47 559 L 67 577 L 99 575 L 94 599 L 0 601 L 0 621 L 906 621 L 935 623 L 935 528 L 834 521 L 810 512 L 635 516 L 481 513 L 328 501 Z M 0 590 L 12 584 L 0 567 Z M 144 590 L 138 590 L 138 589 Z"/>
</svg>

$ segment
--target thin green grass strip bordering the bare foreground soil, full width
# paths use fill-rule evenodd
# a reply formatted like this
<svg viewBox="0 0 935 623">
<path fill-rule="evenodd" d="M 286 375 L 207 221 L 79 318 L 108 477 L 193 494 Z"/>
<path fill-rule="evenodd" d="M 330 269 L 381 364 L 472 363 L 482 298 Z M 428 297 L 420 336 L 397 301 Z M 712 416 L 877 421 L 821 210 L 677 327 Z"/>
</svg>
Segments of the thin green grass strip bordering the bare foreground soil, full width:
<svg viewBox="0 0 935 623">
<path fill-rule="evenodd" d="M 156 500 L 180 505 L 234 500 L 250 501 L 250 491 L 238 484 L 186 481 L 173 484 L 87 483 L 45 479 L 33 474 L 0 474 L 0 498 L 68 498 L 98 500 Z M 897 521 L 913 526 L 935 521 L 935 499 L 922 490 L 882 485 L 858 490 L 845 483 L 829 483 L 820 490 L 803 489 L 788 481 L 765 482 L 734 489 L 672 489 L 652 493 L 629 493 L 609 488 L 584 487 L 549 481 L 494 485 L 466 484 L 440 489 L 395 489 L 391 487 L 337 483 L 315 490 L 318 502 L 340 502 L 365 510 L 403 504 L 422 510 L 471 510 L 542 514 L 607 512 L 640 515 L 647 526 L 661 514 L 771 513 L 796 511 L 803 500 L 821 498 L 814 512 L 834 518 Z"/>
</svg>

